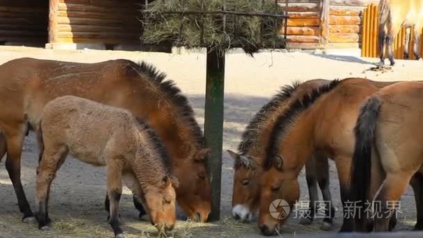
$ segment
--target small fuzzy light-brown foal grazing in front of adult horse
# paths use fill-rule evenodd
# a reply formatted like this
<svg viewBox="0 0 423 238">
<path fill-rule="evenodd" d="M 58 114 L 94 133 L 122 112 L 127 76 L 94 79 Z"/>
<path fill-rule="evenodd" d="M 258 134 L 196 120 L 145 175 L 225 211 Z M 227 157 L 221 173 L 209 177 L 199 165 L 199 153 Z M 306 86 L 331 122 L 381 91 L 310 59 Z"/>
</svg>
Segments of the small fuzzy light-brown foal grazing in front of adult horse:
<svg viewBox="0 0 423 238">
<path fill-rule="evenodd" d="M 94 166 L 106 166 L 110 198 L 109 223 L 123 237 L 118 223 L 122 179 L 150 214 L 159 231 L 175 224 L 175 187 L 165 149 L 155 132 L 123 109 L 74 96 L 58 97 L 42 111 L 42 158 L 37 168 L 36 218 L 39 228 L 50 223 L 49 191 L 67 154 Z"/>
</svg>

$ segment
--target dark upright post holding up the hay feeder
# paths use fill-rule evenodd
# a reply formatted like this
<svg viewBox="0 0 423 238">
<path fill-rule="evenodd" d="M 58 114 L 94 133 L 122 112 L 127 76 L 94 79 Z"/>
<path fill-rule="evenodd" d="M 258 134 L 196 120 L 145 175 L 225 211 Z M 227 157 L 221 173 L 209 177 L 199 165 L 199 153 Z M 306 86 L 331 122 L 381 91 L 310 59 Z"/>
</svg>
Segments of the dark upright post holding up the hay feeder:
<svg viewBox="0 0 423 238">
<path fill-rule="evenodd" d="M 206 145 L 212 149 L 207 160 L 207 173 L 212 185 L 212 214 L 209 221 L 217 221 L 221 213 L 224 86 L 225 52 L 207 49 L 204 132 Z"/>
</svg>

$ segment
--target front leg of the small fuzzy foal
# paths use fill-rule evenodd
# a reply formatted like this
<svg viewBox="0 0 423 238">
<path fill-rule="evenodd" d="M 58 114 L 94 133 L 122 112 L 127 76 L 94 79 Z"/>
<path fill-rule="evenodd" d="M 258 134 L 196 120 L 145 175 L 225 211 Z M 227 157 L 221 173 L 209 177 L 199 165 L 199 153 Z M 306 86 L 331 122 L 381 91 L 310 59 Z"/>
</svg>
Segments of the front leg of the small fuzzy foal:
<svg viewBox="0 0 423 238">
<path fill-rule="evenodd" d="M 123 231 L 119 221 L 119 201 L 122 195 L 122 161 L 120 157 L 110 159 L 107 163 L 107 194 L 110 199 L 110 219 L 109 224 L 113 229 L 116 238 L 123 238 Z"/>
</svg>

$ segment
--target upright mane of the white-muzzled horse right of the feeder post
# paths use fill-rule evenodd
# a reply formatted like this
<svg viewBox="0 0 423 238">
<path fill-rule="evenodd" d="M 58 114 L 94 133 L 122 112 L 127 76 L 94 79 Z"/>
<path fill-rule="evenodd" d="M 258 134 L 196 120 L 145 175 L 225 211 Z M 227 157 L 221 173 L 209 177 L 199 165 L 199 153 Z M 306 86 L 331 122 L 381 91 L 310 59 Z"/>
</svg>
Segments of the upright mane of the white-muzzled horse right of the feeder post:
<svg viewBox="0 0 423 238">
<path fill-rule="evenodd" d="M 262 125 L 269 120 L 273 113 L 278 109 L 280 104 L 292 96 L 292 93 L 294 93 L 296 88 L 298 88 L 300 85 L 300 81 L 294 81 L 292 85 L 285 85 L 280 87 L 279 92 L 274 95 L 267 104 L 262 106 L 260 111 L 255 113 L 254 118 L 250 121 L 241 136 L 241 143 L 238 145 L 238 151 L 242 155 L 245 155 L 253 146 L 255 141 L 257 141 L 257 136 L 260 134 Z"/>
</svg>

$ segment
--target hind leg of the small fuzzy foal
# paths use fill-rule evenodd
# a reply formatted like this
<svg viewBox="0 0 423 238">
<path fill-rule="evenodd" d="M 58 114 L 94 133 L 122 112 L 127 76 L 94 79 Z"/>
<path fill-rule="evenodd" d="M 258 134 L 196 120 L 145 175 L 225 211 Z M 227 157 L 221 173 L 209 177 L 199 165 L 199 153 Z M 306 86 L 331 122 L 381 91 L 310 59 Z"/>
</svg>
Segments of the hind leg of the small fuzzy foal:
<svg viewBox="0 0 423 238">
<path fill-rule="evenodd" d="M 56 176 L 56 171 L 65 161 L 66 155 L 67 148 L 63 145 L 42 153 L 42 159 L 37 168 L 35 194 L 35 216 L 40 230 L 45 230 L 51 223 L 48 211 L 51 182 Z"/>
</svg>

